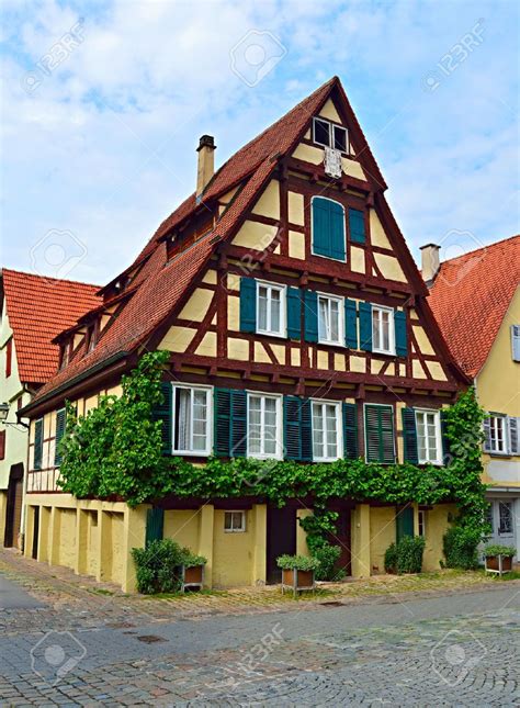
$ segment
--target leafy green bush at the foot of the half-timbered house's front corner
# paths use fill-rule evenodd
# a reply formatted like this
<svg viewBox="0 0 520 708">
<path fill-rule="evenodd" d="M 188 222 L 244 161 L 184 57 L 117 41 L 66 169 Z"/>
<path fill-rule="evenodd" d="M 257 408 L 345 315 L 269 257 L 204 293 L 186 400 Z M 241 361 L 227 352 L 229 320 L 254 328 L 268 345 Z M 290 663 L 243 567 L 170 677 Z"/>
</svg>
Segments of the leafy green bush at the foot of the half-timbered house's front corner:
<svg viewBox="0 0 520 708">
<path fill-rule="evenodd" d="M 167 538 L 151 541 L 146 548 L 133 548 L 132 555 L 139 593 L 152 595 L 181 589 L 180 567 L 186 558 L 186 549 L 179 543 Z"/>
</svg>

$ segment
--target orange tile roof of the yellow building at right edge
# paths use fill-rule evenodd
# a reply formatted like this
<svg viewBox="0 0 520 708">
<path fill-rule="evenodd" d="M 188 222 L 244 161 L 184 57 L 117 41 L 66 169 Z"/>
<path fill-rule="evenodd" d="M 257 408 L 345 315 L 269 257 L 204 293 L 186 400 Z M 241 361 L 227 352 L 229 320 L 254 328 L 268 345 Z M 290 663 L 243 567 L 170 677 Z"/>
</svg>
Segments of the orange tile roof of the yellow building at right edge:
<svg viewBox="0 0 520 708">
<path fill-rule="evenodd" d="M 455 360 L 478 374 L 520 281 L 520 236 L 441 263 L 428 302 Z"/>
</svg>

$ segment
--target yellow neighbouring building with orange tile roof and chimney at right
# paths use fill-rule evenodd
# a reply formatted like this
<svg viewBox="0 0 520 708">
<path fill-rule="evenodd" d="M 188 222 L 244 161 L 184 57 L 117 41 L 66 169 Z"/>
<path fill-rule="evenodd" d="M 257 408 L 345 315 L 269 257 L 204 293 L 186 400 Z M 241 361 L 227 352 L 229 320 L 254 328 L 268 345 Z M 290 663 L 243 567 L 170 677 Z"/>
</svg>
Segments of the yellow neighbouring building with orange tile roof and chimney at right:
<svg viewBox="0 0 520 708">
<path fill-rule="evenodd" d="M 520 541 L 520 236 L 439 262 L 422 248 L 429 303 L 459 366 L 475 383 L 485 420 L 484 481 L 491 542 Z"/>
</svg>

